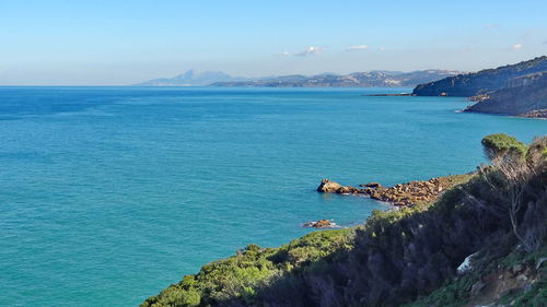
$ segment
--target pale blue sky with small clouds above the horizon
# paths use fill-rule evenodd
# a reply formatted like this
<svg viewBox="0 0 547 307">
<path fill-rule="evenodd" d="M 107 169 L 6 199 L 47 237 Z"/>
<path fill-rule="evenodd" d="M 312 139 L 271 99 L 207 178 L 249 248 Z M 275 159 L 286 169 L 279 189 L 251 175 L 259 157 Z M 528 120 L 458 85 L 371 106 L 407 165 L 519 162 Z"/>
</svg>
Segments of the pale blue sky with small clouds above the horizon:
<svg viewBox="0 0 547 307">
<path fill-rule="evenodd" d="M 474 71 L 547 55 L 547 1 L 0 0 L 0 84 Z"/>
</svg>

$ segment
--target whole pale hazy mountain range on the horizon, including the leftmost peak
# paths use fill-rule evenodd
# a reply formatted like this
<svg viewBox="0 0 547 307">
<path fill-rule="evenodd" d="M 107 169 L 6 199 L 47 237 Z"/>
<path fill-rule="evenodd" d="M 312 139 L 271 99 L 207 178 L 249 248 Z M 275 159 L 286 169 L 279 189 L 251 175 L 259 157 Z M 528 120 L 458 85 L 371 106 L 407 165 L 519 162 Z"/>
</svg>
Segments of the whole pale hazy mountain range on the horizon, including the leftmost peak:
<svg viewBox="0 0 547 307">
<path fill-rule="evenodd" d="M 175 78 L 154 79 L 136 85 L 140 86 L 247 86 L 247 87 L 398 87 L 415 86 L 446 76 L 462 73 L 450 70 L 369 71 L 350 74 L 322 73 L 317 75 L 281 75 L 264 78 L 231 76 L 223 72 L 206 71 L 195 73 L 193 70 Z"/>
</svg>

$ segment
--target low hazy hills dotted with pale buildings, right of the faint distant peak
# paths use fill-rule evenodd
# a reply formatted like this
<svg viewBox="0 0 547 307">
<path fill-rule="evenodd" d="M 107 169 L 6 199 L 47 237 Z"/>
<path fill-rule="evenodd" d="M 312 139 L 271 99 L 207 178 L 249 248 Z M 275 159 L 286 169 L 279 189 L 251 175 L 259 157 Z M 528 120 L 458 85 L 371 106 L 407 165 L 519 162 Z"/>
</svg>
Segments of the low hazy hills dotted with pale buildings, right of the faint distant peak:
<svg viewBox="0 0 547 307">
<path fill-rule="evenodd" d="M 422 70 L 412 72 L 370 71 L 350 74 L 324 73 L 317 75 L 284 75 L 261 78 L 241 82 L 217 82 L 213 86 L 266 86 L 266 87 L 397 87 L 415 86 L 459 72 L 447 70 Z"/>
</svg>

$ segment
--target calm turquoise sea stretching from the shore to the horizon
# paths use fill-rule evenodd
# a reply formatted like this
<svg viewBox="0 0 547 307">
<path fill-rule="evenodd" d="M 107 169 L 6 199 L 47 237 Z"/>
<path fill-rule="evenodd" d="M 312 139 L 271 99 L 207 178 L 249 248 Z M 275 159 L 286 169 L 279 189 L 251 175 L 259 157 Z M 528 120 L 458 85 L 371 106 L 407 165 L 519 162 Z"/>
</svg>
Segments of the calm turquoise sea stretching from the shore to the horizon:
<svg viewBox="0 0 547 307">
<path fill-rule="evenodd" d="M 137 306 L 249 243 L 384 204 L 319 194 L 464 173 L 480 139 L 547 121 L 457 114 L 408 88 L 0 87 L 0 298 Z"/>
</svg>

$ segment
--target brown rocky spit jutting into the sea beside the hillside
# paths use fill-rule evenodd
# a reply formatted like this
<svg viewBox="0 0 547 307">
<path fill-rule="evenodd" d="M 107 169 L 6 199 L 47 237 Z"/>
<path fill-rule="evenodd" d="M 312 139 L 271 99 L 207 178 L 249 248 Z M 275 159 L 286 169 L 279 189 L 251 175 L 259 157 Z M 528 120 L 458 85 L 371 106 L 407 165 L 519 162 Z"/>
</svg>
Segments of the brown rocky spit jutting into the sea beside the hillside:
<svg viewBox="0 0 547 307">
<path fill-rule="evenodd" d="M 340 194 L 365 194 L 372 199 L 391 202 L 395 205 L 412 205 L 433 201 L 452 185 L 452 179 L 446 177 L 410 181 L 393 187 L 383 187 L 379 182 L 369 182 L 360 185 L 360 188 L 342 186 L 329 179 L 323 179 L 319 187 L 317 187 L 317 191 Z"/>
</svg>

